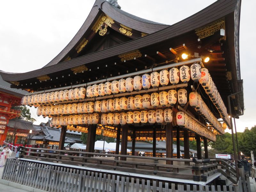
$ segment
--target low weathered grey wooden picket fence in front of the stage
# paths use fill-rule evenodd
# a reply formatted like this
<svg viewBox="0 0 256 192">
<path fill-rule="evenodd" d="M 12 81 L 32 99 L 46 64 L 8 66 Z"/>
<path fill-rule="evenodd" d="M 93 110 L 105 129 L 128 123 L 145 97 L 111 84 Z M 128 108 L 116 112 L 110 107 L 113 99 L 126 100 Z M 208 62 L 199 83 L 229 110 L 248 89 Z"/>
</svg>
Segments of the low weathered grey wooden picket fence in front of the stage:
<svg viewBox="0 0 256 192">
<path fill-rule="evenodd" d="M 19 159 L 7 159 L 2 179 L 51 192 L 238 192 L 237 185 L 177 185 Z"/>
</svg>

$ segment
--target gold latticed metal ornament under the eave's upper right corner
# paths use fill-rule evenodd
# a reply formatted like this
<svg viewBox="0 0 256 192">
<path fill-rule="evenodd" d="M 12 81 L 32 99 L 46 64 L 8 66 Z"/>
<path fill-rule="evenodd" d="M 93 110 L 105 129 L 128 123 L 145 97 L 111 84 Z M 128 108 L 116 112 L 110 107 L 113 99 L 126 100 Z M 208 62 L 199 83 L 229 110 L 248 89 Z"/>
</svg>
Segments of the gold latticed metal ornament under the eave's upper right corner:
<svg viewBox="0 0 256 192">
<path fill-rule="evenodd" d="M 225 29 L 225 19 L 222 18 L 209 25 L 196 29 L 196 35 L 199 39 L 213 35 L 216 31 Z M 226 36 L 222 37 L 221 40 L 226 40 Z"/>
</svg>

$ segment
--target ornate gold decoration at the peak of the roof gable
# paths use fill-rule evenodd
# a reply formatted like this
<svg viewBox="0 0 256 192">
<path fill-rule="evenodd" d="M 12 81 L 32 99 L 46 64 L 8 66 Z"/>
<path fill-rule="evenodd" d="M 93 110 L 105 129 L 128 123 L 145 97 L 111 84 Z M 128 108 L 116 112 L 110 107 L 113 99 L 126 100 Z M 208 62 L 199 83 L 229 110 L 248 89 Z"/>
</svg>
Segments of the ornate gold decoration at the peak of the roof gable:
<svg viewBox="0 0 256 192">
<path fill-rule="evenodd" d="M 111 19 L 108 15 L 102 13 L 96 23 L 93 25 L 92 30 L 97 33 L 100 29 L 99 34 L 101 36 L 104 36 L 107 33 L 107 27 L 111 27 L 111 24 L 113 23 L 115 23 L 113 19 Z"/>
</svg>

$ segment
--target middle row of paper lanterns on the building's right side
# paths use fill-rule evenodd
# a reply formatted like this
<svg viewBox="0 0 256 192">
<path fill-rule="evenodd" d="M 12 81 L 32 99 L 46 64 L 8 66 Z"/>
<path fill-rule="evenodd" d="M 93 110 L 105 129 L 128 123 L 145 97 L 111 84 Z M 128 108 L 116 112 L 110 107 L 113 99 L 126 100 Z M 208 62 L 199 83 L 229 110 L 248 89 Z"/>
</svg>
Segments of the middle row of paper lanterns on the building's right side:
<svg viewBox="0 0 256 192">
<path fill-rule="evenodd" d="M 212 114 L 211 110 L 207 107 L 205 102 L 203 101 L 200 94 L 197 92 L 189 93 L 189 104 L 191 107 L 195 108 L 195 110 L 201 114 L 204 119 L 209 122 L 210 125 L 213 126 L 221 134 L 225 134 L 225 131 L 221 125 L 221 123 L 217 120 L 217 118 Z"/>
</svg>

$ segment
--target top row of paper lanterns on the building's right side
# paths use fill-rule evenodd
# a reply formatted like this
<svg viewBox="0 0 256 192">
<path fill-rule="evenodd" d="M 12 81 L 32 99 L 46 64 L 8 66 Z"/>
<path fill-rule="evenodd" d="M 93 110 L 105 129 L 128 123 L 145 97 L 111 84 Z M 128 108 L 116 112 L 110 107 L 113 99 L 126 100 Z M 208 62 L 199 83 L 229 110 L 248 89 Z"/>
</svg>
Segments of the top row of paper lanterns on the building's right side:
<svg viewBox="0 0 256 192">
<path fill-rule="evenodd" d="M 202 78 L 199 80 L 199 83 L 202 84 L 205 92 L 210 96 L 210 99 L 218 109 L 222 119 L 230 126 L 227 108 L 212 80 L 211 75 L 209 74 L 209 71 L 206 68 L 202 68 Z"/>
</svg>

